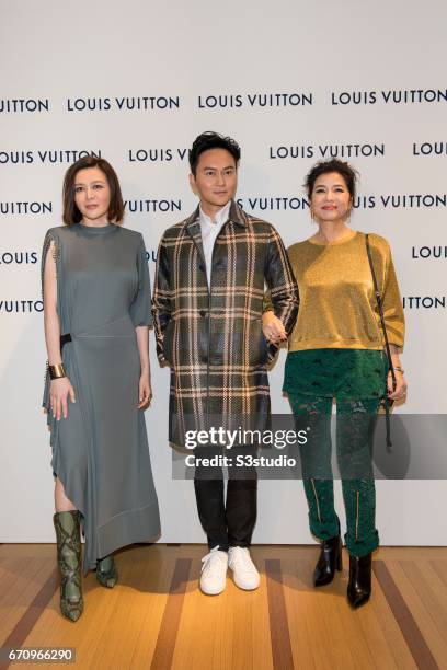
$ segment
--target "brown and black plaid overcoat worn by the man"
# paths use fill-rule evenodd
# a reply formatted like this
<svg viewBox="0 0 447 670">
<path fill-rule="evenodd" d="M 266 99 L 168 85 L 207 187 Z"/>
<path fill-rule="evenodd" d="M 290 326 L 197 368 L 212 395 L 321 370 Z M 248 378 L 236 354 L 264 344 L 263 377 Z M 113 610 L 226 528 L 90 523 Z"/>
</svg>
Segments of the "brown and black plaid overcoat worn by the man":
<svg viewBox="0 0 447 670">
<path fill-rule="evenodd" d="M 211 425 L 265 429 L 266 366 L 277 348 L 261 327 L 265 284 L 287 333 L 297 317 L 298 288 L 282 239 L 234 201 L 215 242 L 210 277 L 208 290 L 197 208 L 164 232 L 154 278 L 157 353 L 171 367 L 173 447 L 184 446 L 186 430 Z"/>
</svg>

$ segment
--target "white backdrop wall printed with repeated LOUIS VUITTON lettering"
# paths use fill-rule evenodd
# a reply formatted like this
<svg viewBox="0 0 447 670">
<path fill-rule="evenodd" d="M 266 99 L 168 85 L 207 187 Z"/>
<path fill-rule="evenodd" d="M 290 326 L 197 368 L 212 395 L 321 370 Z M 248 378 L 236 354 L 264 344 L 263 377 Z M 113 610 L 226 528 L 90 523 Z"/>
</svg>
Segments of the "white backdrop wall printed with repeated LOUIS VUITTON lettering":
<svg viewBox="0 0 447 670">
<path fill-rule="evenodd" d="M 0 8 L 0 541 L 54 538 L 39 262 L 45 231 L 60 223 L 64 173 L 80 151 L 101 152 L 116 169 L 125 224 L 144 233 L 152 276 L 162 231 L 195 207 L 184 150 L 200 131 L 241 143 L 239 197 L 287 244 L 312 233 L 301 188 L 310 165 L 331 154 L 351 160 L 362 173 L 352 223 L 390 241 L 404 298 L 411 391 L 400 412 L 446 412 L 443 0 Z M 169 373 L 153 337 L 151 357 L 147 425 L 161 541 L 202 542 L 192 483 L 171 478 Z M 271 376 L 276 412 L 289 412 L 284 358 Z M 445 481 L 377 488 L 382 544 L 447 544 Z M 311 541 L 300 483 L 260 483 L 253 541 Z"/>
</svg>

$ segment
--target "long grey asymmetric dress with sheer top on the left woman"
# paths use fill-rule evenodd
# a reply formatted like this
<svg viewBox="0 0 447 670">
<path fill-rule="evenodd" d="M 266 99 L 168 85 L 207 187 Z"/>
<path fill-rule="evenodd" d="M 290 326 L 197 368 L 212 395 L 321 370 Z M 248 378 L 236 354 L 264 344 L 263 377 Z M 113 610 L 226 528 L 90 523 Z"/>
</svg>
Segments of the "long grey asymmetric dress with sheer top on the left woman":
<svg viewBox="0 0 447 670">
<path fill-rule="evenodd" d="M 57 267 L 62 360 L 76 393 L 68 417 L 44 407 L 54 473 L 83 517 L 84 571 L 114 550 L 160 533 L 145 415 L 137 408 L 140 360 L 135 327 L 150 325 L 150 286 L 140 233 L 81 223 L 50 229 Z M 43 273 L 44 274 L 44 273 Z"/>
</svg>

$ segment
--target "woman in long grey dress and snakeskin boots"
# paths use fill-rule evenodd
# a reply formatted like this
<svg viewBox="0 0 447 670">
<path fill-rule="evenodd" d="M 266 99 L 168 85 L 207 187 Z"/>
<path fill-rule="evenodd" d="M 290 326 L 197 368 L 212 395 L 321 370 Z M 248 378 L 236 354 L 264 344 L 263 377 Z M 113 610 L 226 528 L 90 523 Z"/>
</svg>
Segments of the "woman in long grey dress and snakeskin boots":
<svg viewBox="0 0 447 670">
<path fill-rule="evenodd" d="M 121 223 L 119 183 L 103 159 L 83 158 L 64 182 L 65 226 L 43 250 L 44 407 L 56 477 L 54 517 L 60 609 L 77 621 L 84 574 L 112 588 L 112 553 L 160 532 L 144 408 L 149 369 L 150 286 L 140 233 Z"/>
</svg>

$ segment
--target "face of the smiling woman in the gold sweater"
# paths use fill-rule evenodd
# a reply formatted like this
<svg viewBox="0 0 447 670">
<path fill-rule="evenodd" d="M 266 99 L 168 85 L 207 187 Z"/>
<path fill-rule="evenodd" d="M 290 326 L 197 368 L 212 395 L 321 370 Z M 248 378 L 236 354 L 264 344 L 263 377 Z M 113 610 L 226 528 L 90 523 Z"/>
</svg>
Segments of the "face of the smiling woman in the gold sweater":
<svg viewBox="0 0 447 670">
<path fill-rule="evenodd" d="M 312 216 L 317 221 L 345 221 L 352 207 L 346 182 L 339 172 L 321 174 L 313 185 L 310 198 Z"/>
</svg>

